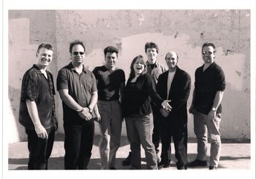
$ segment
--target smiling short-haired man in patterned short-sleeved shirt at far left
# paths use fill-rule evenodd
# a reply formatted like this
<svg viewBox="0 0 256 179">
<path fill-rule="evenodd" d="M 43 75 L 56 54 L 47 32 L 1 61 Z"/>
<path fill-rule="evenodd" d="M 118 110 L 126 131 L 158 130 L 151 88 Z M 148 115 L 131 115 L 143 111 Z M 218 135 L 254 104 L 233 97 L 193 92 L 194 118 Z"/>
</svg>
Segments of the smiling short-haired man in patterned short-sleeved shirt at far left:
<svg viewBox="0 0 256 179">
<path fill-rule="evenodd" d="M 29 170 L 47 170 L 58 122 L 55 114 L 53 76 L 46 70 L 53 59 L 53 47 L 40 44 L 37 64 L 23 76 L 19 122 L 26 128 Z"/>
</svg>

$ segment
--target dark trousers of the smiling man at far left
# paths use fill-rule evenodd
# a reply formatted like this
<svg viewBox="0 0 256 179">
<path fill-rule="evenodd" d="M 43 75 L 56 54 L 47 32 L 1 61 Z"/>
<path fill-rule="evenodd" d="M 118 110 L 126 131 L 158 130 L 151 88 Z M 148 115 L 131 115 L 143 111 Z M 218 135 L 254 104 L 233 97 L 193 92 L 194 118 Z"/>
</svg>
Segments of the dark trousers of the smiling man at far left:
<svg viewBox="0 0 256 179">
<path fill-rule="evenodd" d="M 48 139 L 38 138 L 35 130 L 26 129 L 28 135 L 29 148 L 29 170 L 47 170 L 48 159 L 53 150 L 53 142 L 55 136 L 54 127 L 46 130 Z"/>
</svg>

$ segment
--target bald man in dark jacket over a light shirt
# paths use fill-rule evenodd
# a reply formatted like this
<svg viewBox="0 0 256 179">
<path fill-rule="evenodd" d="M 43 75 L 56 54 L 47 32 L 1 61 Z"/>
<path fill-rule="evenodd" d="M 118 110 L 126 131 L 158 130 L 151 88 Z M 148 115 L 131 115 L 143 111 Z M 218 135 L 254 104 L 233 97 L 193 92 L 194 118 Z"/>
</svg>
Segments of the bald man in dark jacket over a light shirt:
<svg viewBox="0 0 256 179">
<path fill-rule="evenodd" d="M 168 52 L 165 62 L 169 71 L 159 76 L 157 92 L 162 99 L 170 101 L 171 111 L 161 119 L 162 154 L 158 169 L 170 167 L 170 142 L 173 137 L 176 167 L 178 170 L 187 169 L 187 99 L 189 98 L 191 79 L 186 71 L 178 68 L 178 55 Z"/>
</svg>

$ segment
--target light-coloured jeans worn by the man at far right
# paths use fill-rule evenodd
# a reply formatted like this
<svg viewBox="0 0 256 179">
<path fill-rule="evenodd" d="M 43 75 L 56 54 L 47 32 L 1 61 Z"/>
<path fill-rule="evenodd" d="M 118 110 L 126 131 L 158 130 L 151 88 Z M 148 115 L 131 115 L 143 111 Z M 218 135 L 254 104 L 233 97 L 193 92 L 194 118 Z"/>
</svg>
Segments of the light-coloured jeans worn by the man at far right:
<svg viewBox="0 0 256 179">
<path fill-rule="evenodd" d="M 207 143 L 209 138 L 209 142 L 211 143 L 210 166 L 212 167 L 218 167 L 219 163 L 221 151 L 221 139 L 219 133 L 220 121 L 221 114 L 217 114 L 215 119 L 211 119 L 208 115 L 195 111 L 194 132 L 197 136 L 197 159 L 206 159 Z"/>
</svg>

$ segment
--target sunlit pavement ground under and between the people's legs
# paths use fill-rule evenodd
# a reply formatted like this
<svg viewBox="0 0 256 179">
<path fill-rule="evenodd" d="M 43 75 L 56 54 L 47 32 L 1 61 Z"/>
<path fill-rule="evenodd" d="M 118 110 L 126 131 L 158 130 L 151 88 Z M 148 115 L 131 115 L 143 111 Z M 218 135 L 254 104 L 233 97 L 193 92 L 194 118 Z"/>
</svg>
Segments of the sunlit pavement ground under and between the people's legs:
<svg viewBox="0 0 256 179">
<path fill-rule="evenodd" d="M 91 160 L 89 162 L 89 170 L 100 170 L 99 158 L 99 135 L 94 137 L 94 146 L 92 148 Z M 27 170 L 29 161 L 29 151 L 27 142 L 10 143 L 8 146 L 8 168 L 9 170 Z M 210 147 L 210 144 L 208 144 Z M 171 167 L 162 170 L 176 170 L 176 159 L 174 156 L 174 146 L 172 143 L 172 162 Z M 159 146 L 161 151 L 161 143 Z M 195 139 L 189 139 L 188 142 L 188 161 L 191 162 L 196 157 L 197 143 Z M 208 156 L 209 156 L 208 150 Z M 122 166 L 121 162 L 129 154 L 129 142 L 127 136 L 121 137 L 121 146 L 116 154 L 116 169 L 129 170 L 130 166 Z M 146 159 L 143 148 L 141 147 L 142 169 L 146 170 Z M 209 159 L 209 157 L 208 157 Z M 219 161 L 218 170 L 250 170 L 250 142 L 249 140 L 223 140 L 222 139 L 222 154 Z M 48 161 L 49 170 L 64 170 L 64 135 L 56 135 L 56 140 L 53 144 L 53 151 Z M 189 167 L 187 170 L 208 170 L 208 167 Z"/>
</svg>

